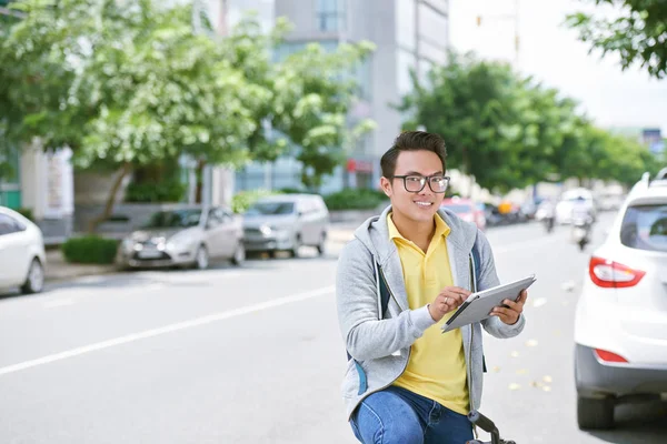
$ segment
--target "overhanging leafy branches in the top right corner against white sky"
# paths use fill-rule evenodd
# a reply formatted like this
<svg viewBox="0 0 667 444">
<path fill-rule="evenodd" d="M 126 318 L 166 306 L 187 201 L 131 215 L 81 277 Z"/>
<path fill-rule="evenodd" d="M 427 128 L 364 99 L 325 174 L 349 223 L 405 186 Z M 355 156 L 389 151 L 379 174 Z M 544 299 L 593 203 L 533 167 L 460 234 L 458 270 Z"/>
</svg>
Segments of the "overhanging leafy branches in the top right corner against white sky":
<svg viewBox="0 0 667 444">
<path fill-rule="evenodd" d="M 614 6 L 619 13 L 605 16 L 577 12 L 566 23 L 579 32 L 581 41 L 603 54 L 616 53 L 623 69 L 634 63 L 655 78 L 667 73 L 667 1 L 665 0 L 589 0 L 596 6 Z"/>
</svg>

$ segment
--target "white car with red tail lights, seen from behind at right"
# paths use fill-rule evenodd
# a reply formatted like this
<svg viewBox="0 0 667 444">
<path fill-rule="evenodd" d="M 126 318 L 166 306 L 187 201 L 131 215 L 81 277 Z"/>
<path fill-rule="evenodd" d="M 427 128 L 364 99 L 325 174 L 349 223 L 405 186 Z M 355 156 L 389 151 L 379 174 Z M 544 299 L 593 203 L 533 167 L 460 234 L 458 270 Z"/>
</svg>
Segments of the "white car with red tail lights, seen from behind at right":
<svg viewBox="0 0 667 444">
<path fill-rule="evenodd" d="M 580 428 L 667 394 L 667 169 L 645 174 L 590 259 L 575 316 Z"/>
</svg>

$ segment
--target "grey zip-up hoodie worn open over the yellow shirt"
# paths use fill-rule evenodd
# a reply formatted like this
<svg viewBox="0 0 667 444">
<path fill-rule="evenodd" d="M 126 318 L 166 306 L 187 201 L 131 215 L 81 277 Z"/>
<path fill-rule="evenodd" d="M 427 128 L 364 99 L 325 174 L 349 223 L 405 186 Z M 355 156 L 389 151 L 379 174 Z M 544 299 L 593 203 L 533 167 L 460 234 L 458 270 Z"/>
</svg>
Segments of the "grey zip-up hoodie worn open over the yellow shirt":
<svg viewBox="0 0 667 444">
<path fill-rule="evenodd" d="M 400 258 L 387 226 L 390 211 L 388 206 L 382 214 L 361 224 L 338 260 L 338 320 L 352 357 L 342 382 L 348 417 L 365 397 L 391 385 L 400 376 L 408 364 L 412 343 L 436 324 L 426 306 L 409 309 Z M 484 233 L 448 210 L 440 209 L 438 213 L 451 229 L 447 249 L 454 285 L 471 290 L 475 274 L 479 276 L 476 283 L 480 291 L 498 285 L 491 248 Z M 475 264 L 471 255 L 474 245 L 479 252 L 479 264 Z M 476 266 L 479 272 L 471 273 Z M 380 315 L 380 279 L 385 279 L 391 295 L 384 317 Z M 492 316 L 461 327 L 470 410 L 479 408 L 481 402 L 481 326 L 496 337 L 511 337 L 524 330 L 525 323 L 524 315 L 514 325 Z"/>
</svg>

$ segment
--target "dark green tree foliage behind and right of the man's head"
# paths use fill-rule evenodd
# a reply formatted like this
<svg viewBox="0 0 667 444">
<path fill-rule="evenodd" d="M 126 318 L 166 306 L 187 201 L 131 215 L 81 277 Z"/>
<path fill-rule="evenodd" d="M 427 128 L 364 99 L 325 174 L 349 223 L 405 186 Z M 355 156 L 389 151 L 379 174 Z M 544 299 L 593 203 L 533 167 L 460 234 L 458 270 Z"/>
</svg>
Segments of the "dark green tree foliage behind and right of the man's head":
<svg viewBox="0 0 667 444">
<path fill-rule="evenodd" d="M 568 178 L 633 183 L 656 161 L 637 141 L 595 128 L 563 98 L 502 63 L 450 54 L 399 107 L 406 129 L 441 134 L 449 168 L 485 189 L 506 192 Z"/>
</svg>

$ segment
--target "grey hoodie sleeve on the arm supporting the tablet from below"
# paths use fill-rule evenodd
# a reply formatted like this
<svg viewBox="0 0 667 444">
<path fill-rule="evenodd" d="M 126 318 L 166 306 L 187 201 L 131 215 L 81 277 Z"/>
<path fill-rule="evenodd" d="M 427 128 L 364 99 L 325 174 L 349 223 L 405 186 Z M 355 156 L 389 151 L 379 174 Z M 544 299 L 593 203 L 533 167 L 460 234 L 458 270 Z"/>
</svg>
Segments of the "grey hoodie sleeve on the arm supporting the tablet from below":
<svg viewBox="0 0 667 444">
<path fill-rule="evenodd" d="M 477 242 L 476 246 L 479 249 L 480 255 L 480 273 L 479 273 L 479 290 L 490 289 L 492 286 L 500 285 L 500 280 L 498 279 L 498 274 L 496 273 L 496 263 L 494 261 L 494 252 L 491 251 L 491 245 L 487 240 L 486 235 L 481 231 L 477 231 Z M 524 326 L 526 325 L 526 317 L 521 313 L 519 315 L 519 320 L 516 324 L 508 325 L 505 322 L 500 321 L 498 316 L 491 316 L 484 321 L 481 321 L 484 329 L 491 336 L 505 339 L 505 337 L 514 337 L 521 333 Z"/>
</svg>

